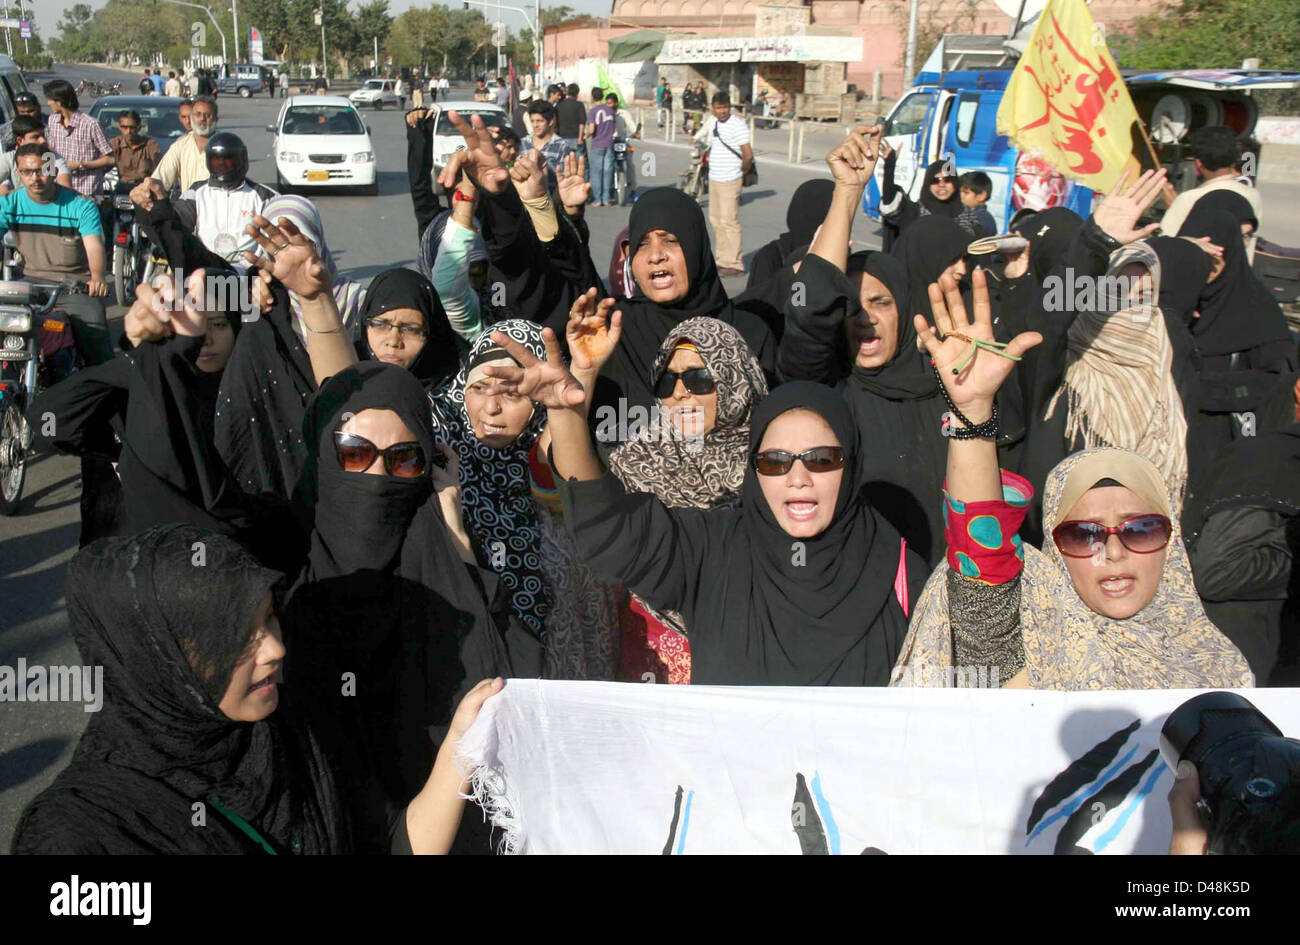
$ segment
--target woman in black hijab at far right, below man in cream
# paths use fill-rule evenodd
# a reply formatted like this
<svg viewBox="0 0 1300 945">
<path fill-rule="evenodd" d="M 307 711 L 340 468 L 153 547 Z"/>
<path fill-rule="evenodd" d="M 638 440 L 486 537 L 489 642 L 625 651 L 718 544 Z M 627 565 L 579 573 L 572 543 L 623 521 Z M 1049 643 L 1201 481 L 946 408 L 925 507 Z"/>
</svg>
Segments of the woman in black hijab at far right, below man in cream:
<svg viewBox="0 0 1300 945">
<path fill-rule="evenodd" d="M 1222 268 L 1216 265 L 1197 299 L 1199 317 L 1192 320 L 1192 338 L 1204 359 L 1204 369 L 1266 370 L 1296 369 L 1296 347 L 1277 299 L 1251 270 L 1242 242 L 1240 222 L 1230 213 L 1199 200 L 1178 231 L 1179 237 L 1210 242 L 1223 248 Z"/>
</svg>

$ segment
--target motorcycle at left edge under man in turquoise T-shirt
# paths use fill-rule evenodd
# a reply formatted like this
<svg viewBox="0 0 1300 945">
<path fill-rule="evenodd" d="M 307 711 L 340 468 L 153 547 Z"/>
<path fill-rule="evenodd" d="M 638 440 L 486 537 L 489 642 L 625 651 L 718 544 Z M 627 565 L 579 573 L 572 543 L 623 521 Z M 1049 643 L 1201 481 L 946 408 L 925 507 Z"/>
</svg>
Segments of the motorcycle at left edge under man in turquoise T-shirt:
<svg viewBox="0 0 1300 945">
<path fill-rule="evenodd" d="M 27 477 L 31 426 L 26 411 L 38 393 L 72 373 L 72 324 L 55 308 L 84 282 L 0 281 L 0 515 L 13 515 Z"/>
</svg>

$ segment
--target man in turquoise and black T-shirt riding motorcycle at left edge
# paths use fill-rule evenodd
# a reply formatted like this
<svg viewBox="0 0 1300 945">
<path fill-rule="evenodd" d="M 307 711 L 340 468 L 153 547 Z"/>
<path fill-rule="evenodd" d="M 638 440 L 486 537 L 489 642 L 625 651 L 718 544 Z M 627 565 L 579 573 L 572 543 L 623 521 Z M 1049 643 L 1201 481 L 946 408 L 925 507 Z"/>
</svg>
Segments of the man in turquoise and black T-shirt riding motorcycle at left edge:
<svg viewBox="0 0 1300 945">
<path fill-rule="evenodd" d="M 77 279 L 86 295 L 65 295 L 60 305 L 73 324 L 77 347 L 86 364 L 113 356 L 103 296 L 104 240 L 95 201 L 62 187 L 53 175 L 53 152 L 40 144 L 17 151 L 23 188 L 0 198 L 0 235 L 13 231 L 25 265 L 23 276 L 42 279 Z"/>
</svg>

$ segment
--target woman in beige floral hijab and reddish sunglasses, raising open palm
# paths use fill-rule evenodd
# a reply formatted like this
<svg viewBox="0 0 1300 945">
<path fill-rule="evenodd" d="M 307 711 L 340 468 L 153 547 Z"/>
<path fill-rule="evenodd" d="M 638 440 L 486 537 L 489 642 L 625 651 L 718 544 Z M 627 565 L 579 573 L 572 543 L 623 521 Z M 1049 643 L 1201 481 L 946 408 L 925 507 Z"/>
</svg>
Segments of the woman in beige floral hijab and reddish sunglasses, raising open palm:
<svg viewBox="0 0 1300 945">
<path fill-rule="evenodd" d="M 1041 335 L 993 339 L 983 270 L 974 318 L 957 285 L 931 286 L 939 330 L 916 316 L 954 415 L 944 516 L 948 563 L 916 606 L 894 684 L 1030 689 L 1249 686 L 1235 646 L 1205 616 L 1183 547 L 1175 497 L 1148 459 L 1076 452 L 1049 474 L 1044 550 L 1018 530 L 1032 489 L 998 469 L 993 398 L 1014 357 Z M 970 357 L 974 354 L 974 357 Z"/>
</svg>

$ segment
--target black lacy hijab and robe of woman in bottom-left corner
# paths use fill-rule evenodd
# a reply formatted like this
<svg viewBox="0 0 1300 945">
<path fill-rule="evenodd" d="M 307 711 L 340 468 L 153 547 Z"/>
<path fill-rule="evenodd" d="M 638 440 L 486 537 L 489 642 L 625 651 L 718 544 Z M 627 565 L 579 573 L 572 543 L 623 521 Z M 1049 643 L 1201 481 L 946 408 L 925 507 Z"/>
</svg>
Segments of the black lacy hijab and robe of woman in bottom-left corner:
<svg viewBox="0 0 1300 945">
<path fill-rule="evenodd" d="M 217 707 L 280 578 L 192 525 L 105 538 L 73 559 L 68 612 L 82 660 L 104 669 L 104 706 L 23 814 L 16 853 L 264 851 L 222 807 L 277 853 L 348 851 L 330 764 L 290 708 L 243 723 Z"/>
</svg>

